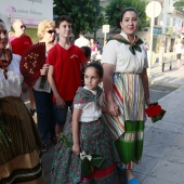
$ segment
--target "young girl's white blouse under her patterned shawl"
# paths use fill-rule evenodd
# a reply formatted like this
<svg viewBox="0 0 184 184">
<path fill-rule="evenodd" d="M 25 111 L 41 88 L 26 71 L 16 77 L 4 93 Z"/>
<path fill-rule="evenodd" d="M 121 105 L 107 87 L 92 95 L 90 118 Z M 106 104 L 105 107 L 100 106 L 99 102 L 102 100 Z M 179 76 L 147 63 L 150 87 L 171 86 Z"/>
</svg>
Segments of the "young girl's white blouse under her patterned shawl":
<svg viewBox="0 0 184 184">
<path fill-rule="evenodd" d="M 89 90 L 87 87 L 83 87 L 86 90 Z M 94 95 L 96 94 L 96 91 L 89 90 L 91 91 Z M 103 103 L 103 93 L 100 96 L 100 105 Z M 102 116 L 102 110 L 100 106 L 97 106 L 96 102 L 89 102 L 86 104 L 74 104 L 74 108 L 82 109 L 81 116 L 79 121 L 94 121 L 97 120 Z"/>
</svg>

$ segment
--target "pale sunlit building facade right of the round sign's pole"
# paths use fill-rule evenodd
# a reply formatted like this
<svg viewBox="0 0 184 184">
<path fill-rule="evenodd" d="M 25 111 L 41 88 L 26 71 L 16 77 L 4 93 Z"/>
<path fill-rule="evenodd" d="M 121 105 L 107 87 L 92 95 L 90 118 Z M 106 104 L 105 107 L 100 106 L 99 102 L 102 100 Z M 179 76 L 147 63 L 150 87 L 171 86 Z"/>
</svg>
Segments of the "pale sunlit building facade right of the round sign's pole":
<svg viewBox="0 0 184 184">
<path fill-rule="evenodd" d="M 182 36 L 182 27 L 184 27 L 184 14 L 176 11 L 173 6 L 174 0 L 158 0 L 162 6 L 162 11 L 155 18 L 154 39 L 157 43 L 165 42 L 166 52 L 173 52 L 174 43 Z M 158 51 L 159 44 L 155 47 Z"/>
</svg>

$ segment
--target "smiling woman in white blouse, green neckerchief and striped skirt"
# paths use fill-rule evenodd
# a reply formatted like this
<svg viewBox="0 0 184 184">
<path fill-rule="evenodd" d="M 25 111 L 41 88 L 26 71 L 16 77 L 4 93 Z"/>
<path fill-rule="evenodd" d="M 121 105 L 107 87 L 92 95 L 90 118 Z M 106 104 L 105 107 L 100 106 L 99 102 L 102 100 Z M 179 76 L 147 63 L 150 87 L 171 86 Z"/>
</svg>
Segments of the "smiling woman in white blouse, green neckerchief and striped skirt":
<svg viewBox="0 0 184 184">
<path fill-rule="evenodd" d="M 120 26 L 121 32 L 107 42 L 101 61 L 105 103 L 110 114 L 103 118 L 126 167 L 126 183 L 137 184 L 132 169 L 134 162 L 140 162 L 143 150 L 145 101 L 149 101 L 148 64 L 144 43 L 135 36 L 137 11 L 124 9 Z"/>
</svg>

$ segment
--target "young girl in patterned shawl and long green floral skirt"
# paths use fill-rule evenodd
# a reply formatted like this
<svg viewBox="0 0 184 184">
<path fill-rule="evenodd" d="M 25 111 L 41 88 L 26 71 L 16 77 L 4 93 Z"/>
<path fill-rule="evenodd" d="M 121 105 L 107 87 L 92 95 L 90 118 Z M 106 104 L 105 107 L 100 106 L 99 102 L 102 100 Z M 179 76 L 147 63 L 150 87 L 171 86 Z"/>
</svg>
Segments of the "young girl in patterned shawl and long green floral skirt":
<svg viewBox="0 0 184 184">
<path fill-rule="evenodd" d="M 68 124 L 56 145 L 52 167 L 53 184 L 76 183 L 118 183 L 116 163 L 119 161 L 108 130 L 101 121 L 103 91 L 98 87 L 103 78 L 103 68 L 96 62 L 90 63 L 84 70 L 83 88 L 79 88 L 74 100 L 71 124 Z M 69 146 L 69 143 L 73 143 Z M 100 169 L 92 167 L 93 172 L 82 175 L 81 153 L 88 157 L 98 155 L 104 162 Z M 86 156 L 84 156 L 86 157 Z M 86 170 L 86 169 L 84 169 Z"/>
</svg>

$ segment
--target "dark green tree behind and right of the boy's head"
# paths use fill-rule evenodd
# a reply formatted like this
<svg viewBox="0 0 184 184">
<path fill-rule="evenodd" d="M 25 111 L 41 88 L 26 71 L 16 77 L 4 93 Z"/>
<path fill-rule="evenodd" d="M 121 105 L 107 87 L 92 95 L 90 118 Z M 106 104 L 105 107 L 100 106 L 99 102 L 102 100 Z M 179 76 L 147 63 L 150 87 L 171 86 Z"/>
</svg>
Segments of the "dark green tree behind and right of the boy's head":
<svg viewBox="0 0 184 184">
<path fill-rule="evenodd" d="M 68 15 L 73 19 L 73 34 L 79 37 L 80 30 L 96 32 L 104 23 L 100 0 L 54 0 L 54 16 Z"/>
</svg>

